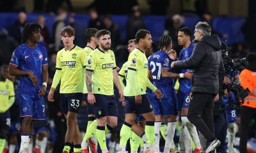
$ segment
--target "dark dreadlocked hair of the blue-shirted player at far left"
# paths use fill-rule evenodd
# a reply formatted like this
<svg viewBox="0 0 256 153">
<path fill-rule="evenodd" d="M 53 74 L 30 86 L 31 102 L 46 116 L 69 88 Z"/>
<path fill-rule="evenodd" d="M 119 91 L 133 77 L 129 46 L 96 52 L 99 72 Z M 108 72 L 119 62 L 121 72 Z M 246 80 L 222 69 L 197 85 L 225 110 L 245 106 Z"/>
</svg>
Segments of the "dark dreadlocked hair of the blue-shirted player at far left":
<svg viewBox="0 0 256 153">
<path fill-rule="evenodd" d="M 33 32 L 42 31 L 42 27 L 36 23 L 28 23 L 24 26 L 22 31 L 21 43 L 26 43 Z"/>
</svg>

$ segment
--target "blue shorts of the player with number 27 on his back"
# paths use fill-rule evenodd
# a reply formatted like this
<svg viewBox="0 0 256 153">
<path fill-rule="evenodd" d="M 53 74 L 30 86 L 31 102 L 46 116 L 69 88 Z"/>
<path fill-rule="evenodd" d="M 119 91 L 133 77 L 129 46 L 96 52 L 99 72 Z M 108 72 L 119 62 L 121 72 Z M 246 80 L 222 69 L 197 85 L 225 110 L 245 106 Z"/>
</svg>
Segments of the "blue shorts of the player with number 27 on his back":
<svg viewBox="0 0 256 153">
<path fill-rule="evenodd" d="M 157 87 L 162 93 L 163 98 L 157 99 L 155 94 L 152 94 L 152 106 L 154 115 L 177 115 L 177 98 L 174 88 Z"/>
</svg>

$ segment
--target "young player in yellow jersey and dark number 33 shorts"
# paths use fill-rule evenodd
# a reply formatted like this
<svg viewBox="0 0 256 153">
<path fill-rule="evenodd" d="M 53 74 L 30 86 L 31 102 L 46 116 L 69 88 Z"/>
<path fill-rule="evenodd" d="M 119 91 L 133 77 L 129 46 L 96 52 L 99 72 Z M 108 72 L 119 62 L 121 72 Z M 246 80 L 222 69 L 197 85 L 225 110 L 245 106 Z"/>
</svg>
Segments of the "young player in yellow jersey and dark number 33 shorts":
<svg viewBox="0 0 256 153">
<path fill-rule="evenodd" d="M 77 125 L 77 113 L 83 99 L 84 68 L 86 52 L 74 45 L 74 28 L 67 26 L 61 30 L 61 40 L 64 48 L 57 54 L 56 72 L 52 80 L 48 100 L 54 101 L 54 91 L 61 80 L 60 105 L 67 119 L 67 133 L 63 153 L 70 152 L 74 143 L 74 152 L 82 152 L 80 131 Z"/>
</svg>

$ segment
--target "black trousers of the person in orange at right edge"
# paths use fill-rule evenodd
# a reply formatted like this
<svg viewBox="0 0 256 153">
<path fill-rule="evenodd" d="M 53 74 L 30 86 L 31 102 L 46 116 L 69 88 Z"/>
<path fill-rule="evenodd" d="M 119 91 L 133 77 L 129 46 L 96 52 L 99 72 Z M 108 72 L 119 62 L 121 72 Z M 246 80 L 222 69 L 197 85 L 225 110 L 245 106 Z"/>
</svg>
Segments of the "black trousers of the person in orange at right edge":
<svg viewBox="0 0 256 153">
<path fill-rule="evenodd" d="M 250 122 L 256 119 L 256 108 L 241 107 L 240 152 L 246 152 L 248 134 L 251 129 Z"/>
</svg>

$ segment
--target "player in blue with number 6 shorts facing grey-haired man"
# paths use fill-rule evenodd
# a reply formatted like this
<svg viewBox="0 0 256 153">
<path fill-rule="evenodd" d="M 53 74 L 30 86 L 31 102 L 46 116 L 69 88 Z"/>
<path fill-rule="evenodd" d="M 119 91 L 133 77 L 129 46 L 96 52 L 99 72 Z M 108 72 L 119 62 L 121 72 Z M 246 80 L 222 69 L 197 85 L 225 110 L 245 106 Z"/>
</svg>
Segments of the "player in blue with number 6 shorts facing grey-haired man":
<svg viewBox="0 0 256 153">
<path fill-rule="evenodd" d="M 180 50 L 179 54 L 179 60 L 187 60 L 191 56 L 194 44 L 191 43 L 190 37 L 191 37 L 192 31 L 188 27 L 182 27 L 179 29 L 178 33 L 178 43 L 180 46 L 182 46 L 182 50 Z M 180 74 L 191 72 L 191 69 L 181 69 Z M 203 150 L 200 144 L 200 140 L 198 138 L 198 133 L 196 131 L 196 127 L 189 122 L 188 120 L 188 106 L 190 102 L 189 94 L 191 91 L 191 80 L 189 78 L 180 78 L 179 79 L 179 91 L 177 94 L 178 98 L 178 111 L 181 112 L 181 121 L 182 121 L 182 131 L 186 133 L 186 130 L 188 129 L 189 134 L 195 143 L 195 150 L 194 152 L 200 152 Z M 185 127 L 186 126 L 186 127 Z M 187 135 L 184 135 L 187 136 Z M 188 138 L 184 138 L 184 145 L 186 146 L 189 142 L 185 141 L 189 140 Z M 185 147 L 186 149 L 186 147 Z M 191 149 L 189 149 L 191 150 Z M 188 152 L 189 150 L 186 150 Z"/>
</svg>

